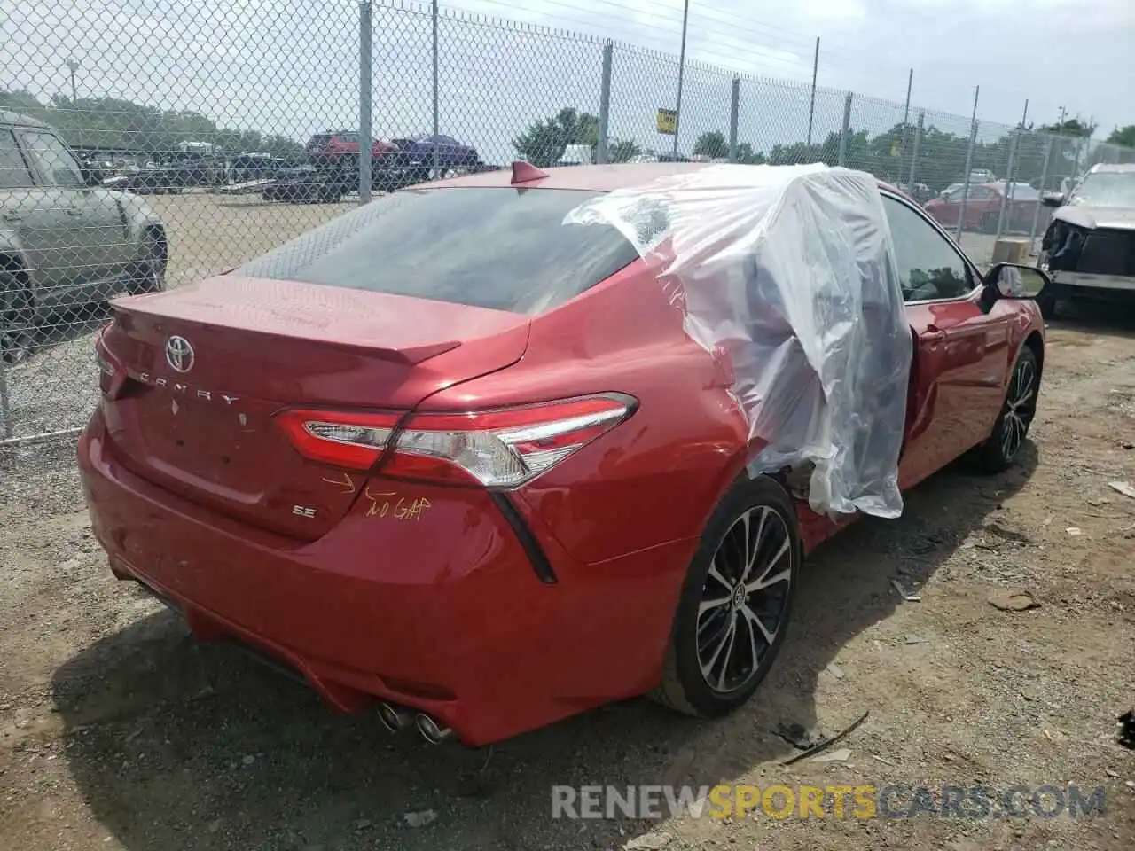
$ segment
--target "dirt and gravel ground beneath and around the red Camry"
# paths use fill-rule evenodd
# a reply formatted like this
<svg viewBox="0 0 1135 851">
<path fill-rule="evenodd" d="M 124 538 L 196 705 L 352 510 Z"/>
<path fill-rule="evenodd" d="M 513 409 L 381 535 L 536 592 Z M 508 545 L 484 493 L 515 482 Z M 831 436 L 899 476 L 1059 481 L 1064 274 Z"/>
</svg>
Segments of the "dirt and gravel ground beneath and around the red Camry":
<svg viewBox="0 0 1135 851">
<path fill-rule="evenodd" d="M 784 652 L 742 710 L 698 723 L 629 701 L 489 752 L 392 736 L 190 641 L 111 578 L 73 454 L 0 450 L 3 848 L 1135 848 L 1135 755 L 1116 743 L 1135 703 L 1135 499 L 1108 486 L 1135 482 L 1135 317 L 1050 328 L 1018 470 L 947 470 L 902 519 L 809 559 Z M 1040 606 L 989 604 L 1009 588 Z M 777 724 L 831 734 L 867 710 L 846 761 L 780 765 L 796 751 Z M 718 782 L 1076 783 L 1107 799 L 1078 820 L 550 818 L 553 784 Z M 405 826 L 426 810 L 436 820 Z"/>
</svg>

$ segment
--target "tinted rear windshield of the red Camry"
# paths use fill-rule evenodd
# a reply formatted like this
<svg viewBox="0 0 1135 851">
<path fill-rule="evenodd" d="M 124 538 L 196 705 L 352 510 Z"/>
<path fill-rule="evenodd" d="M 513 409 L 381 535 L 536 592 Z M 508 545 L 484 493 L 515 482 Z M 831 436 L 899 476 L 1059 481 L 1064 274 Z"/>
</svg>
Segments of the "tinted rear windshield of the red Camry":
<svg viewBox="0 0 1135 851">
<path fill-rule="evenodd" d="M 612 227 L 564 225 L 598 193 L 510 187 L 385 195 L 233 275 L 537 314 L 638 258 Z"/>
</svg>

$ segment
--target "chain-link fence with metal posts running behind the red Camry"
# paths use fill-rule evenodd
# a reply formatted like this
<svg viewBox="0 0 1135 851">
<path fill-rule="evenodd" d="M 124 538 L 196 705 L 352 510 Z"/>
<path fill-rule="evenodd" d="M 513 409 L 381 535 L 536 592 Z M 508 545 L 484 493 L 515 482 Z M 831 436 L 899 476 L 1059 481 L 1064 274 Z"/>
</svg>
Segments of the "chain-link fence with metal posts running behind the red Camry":
<svg viewBox="0 0 1135 851">
<path fill-rule="evenodd" d="M 159 6 L 0 0 L 0 443 L 85 422 L 108 297 L 219 273 L 373 194 L 455 172 L 514 159 L 844 165 L 936 199 L 933 214 L 984 262 L 994 236 L 1043 231 L 1040 192 L 1135 161 L 1088 138 L 415 3 Z"/>
</svg>

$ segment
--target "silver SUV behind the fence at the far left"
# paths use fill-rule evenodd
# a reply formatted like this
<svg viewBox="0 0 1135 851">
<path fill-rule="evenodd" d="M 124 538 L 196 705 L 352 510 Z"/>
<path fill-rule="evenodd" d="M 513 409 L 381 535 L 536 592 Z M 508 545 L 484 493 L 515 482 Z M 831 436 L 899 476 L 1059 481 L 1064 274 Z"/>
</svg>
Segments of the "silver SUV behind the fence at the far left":
<svg viewBox="0 0 1135 851">
<path fill-rule="evenodd" d="M 165 287 L 161 219 L 102 187 L 48 125 L 0 110 L 0 357 L 23 360 L 53 313 Z"/>
</svg>

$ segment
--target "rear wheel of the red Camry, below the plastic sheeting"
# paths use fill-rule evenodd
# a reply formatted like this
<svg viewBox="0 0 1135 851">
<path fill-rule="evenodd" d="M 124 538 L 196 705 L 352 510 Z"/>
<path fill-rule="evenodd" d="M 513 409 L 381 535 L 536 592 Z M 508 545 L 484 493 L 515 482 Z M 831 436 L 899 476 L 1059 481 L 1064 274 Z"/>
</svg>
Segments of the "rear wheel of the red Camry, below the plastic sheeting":
<svg viewBox="0 0 1135 851">
<path fill-rule="evenodd" d="M 802 558 L 796 508 L 784 488 L 765 475 L 739 480 L 711 516 L 690 563 L 662 683 L 650 698 L 700 718 L 743 705 L 784 641 Z"/>
</svg>

